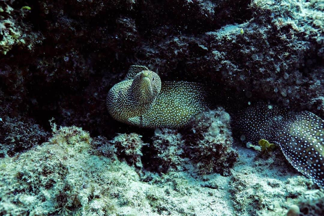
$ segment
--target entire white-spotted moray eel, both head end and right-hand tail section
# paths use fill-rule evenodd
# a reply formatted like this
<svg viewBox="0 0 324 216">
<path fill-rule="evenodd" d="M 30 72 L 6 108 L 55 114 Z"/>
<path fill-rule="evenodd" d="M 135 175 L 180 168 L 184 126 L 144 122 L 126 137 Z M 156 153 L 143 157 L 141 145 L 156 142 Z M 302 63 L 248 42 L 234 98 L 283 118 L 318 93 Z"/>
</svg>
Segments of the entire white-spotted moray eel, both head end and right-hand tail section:
<svg viewBox="0 0 324 216">
<path fill-rule="evenodd" d="M 206 109 L 206 91 L 197 83 L 162 82 L 144 66 L 131 66 L 107 96 L 110 115 L 145 128 L 180 128 Z M 233 127 L 244 142 L 261 139 L 280 146 L 296 170 L 324 188 L 324 121 L 315 114 L 257 104 L 236 113 Z"/>
</svg>

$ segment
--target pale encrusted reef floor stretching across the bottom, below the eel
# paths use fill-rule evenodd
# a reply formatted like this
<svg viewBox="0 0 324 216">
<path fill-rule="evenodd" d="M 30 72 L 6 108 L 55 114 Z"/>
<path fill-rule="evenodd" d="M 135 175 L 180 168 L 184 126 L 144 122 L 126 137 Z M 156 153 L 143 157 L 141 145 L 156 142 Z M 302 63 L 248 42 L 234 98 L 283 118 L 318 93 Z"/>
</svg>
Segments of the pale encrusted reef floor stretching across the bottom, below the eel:
<svg viewBox="0 0 324 216">
<path fill-rule="evenodd" d="M 117 148 L 105 137 L 92 139 L 74 126 L 52 128 L 49 142 L 0 159 L 0 214 L 272 216 L 286 214 L 292 205 L 302 215 L 323 213 L 323 191 L 296 176 L 278 150 L 265 161 L 238 147 L 232 176 L 195 175 L 193 160 L 182 171 L 141 178 L 134 166 L 117 159 Z M 156 136 L 166 132 L 171 133 Z M 131 134 L 114 140 L 122 136 Z M 180 136 L 172 139 L 179 142 Z"/>
</svg>

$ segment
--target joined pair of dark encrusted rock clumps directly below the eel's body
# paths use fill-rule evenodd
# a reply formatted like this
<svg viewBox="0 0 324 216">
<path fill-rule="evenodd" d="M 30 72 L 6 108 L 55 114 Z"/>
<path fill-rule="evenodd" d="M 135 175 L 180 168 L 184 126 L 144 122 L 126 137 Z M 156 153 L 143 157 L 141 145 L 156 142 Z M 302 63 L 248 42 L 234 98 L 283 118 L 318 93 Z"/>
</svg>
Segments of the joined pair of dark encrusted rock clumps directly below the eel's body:
<svg viewBox="0 0 324 216">
<path fill-rule="evenodd" d="M 200 175 L 229 175 L 238 157 L 229 122 L 229 114 L 218 108 L 199 114 L 182 130 L 156 130 L 146 168 L 166 173 L 193 166 Z"/>
</svg>

